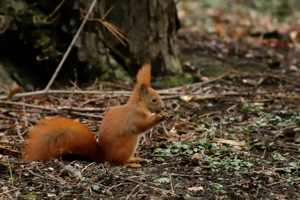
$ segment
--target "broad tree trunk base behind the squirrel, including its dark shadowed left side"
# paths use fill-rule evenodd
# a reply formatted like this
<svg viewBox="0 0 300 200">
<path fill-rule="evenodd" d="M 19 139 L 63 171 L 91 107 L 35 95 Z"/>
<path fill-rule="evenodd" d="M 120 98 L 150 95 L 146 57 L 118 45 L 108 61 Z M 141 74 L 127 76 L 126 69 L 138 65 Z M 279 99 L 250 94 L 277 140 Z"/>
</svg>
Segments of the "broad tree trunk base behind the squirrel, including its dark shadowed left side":
<svg viewBox="0 0 300 200">
<path fill-rule="evenodd" d="M 39 88 L 47 84 L 92 0 L 65 0 L 51 15 L 61 2 L 0 1 L 0 60 L 8 58 L 17 68 L 30 71 L 16 74 L 17 82 L 28 79 Z M 101 18 L 112 5 L 105 20 L 128 33 L 126 45 L 92 20 Z M 95 78 L 131 82 L 145 62 L 151 62 L 153 76 L 181 73 L 178 28 L 174 0 L 97 0 L 56 81 L 69 83 L 76 68 L 78 83 Z"/>
</svg>

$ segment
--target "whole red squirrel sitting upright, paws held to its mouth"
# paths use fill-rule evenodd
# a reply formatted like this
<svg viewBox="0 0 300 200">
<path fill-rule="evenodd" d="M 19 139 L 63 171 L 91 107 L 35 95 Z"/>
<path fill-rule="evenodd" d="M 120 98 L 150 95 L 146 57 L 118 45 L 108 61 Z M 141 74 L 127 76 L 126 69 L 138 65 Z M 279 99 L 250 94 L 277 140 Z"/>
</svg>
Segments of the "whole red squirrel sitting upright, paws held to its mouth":
<svg viewBox="0 0 300 200">
<path fill-rule="evenodd" d="M 22 161 L 48 161 L 63 154 L 77 154 L 129 167 L 141 166 L 134 162 L 148 162 L 133 157 L 139 136 L 168 117 L 163 112 L 163 101 L 150 87 L 150 76 L 151 65 L 144 64 L 128 101 L 104 114 L 97 140 L 80 122 L 66 117 L 42 119 L 27 135 Z"/>
</svg>

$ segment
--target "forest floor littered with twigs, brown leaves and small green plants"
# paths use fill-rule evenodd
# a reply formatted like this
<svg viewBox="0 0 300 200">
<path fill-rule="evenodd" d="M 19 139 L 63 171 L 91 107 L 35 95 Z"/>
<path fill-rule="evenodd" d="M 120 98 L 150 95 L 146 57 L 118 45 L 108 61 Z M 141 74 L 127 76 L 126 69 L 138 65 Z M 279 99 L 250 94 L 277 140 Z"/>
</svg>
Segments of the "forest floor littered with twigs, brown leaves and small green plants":
<svg viewBox="0 0 300 200">
<path fill-rule="evenodd" d="M 192 31 L 194 26 L 179 32 L 183 66 L 194 83 L 153 82 L 171 117 L 141 138 L 136 155 L 151 162 L 141 168 L 61 159 L 19 162 L 22 137 L 41 118 L 74 118 L 96 134 L 105 111 L 125 103 L 132 85 L 94 82 L 86 89 L 107 93 L 4 100 L 0 198 L 300 199 L 298 43 L 290 45 L 286 29 L 258 37 L 237 34 L 236 23 L 247 24 L 240 12 L 233 13 L 238 17 L 220 10 L 198 13 L 188 16 L 221 22 L 215 19 L 215 34 Z M 251 16 L 250 23 L 261 24 L 260 15 Z M 267 29 L 261 26 L 259 31 Z M 221 70 L 209 75 L 215 66 Z M 64 173 L 68 164 L 82 178 Z"/>
</svg>

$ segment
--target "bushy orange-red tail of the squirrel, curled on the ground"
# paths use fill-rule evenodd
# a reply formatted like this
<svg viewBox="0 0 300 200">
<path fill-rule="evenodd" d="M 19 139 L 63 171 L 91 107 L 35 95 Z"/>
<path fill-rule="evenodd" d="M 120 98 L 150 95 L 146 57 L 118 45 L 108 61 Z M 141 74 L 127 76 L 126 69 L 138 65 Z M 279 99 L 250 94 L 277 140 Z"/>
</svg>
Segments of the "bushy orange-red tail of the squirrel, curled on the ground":
<svg viewBox="0 0 300 200">
<path fill-rule="evenodd" d="M 28 133 L 22 161 L 48 161 L 64 154 L 77 154 L 102 161 L 103 152 L 86 125 L 69 118 L 41 120 Z"/>
</svg>

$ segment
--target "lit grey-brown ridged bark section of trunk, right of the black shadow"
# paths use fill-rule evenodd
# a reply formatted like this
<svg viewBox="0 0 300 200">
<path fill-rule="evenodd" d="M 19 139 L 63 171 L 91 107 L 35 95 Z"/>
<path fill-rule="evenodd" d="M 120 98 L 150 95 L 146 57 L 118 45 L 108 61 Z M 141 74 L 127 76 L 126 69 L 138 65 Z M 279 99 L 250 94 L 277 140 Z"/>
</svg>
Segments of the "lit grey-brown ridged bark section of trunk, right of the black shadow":
<svg viewBox="0 0 300 200">
<path fill-rule="evenodd" d="M 87 10 L 91 2 L 79 0 L 79 7 Z M 143 63 L 151 62 L 154 76 L 182 72 L 174 0 L 98 0 L 92 17 L 101 18 L 112 5 L 105 20 L 126 32 L 130 42 L 124 46 L 99 21 L 89 21 L 77 52 L 90 64 L 89 70 L 99 71 L 101 79 L 122 79 L 123 70 L 133 76 Z"/>
</svg>

